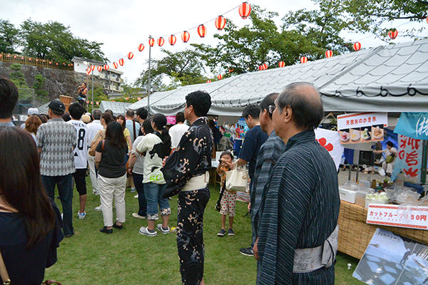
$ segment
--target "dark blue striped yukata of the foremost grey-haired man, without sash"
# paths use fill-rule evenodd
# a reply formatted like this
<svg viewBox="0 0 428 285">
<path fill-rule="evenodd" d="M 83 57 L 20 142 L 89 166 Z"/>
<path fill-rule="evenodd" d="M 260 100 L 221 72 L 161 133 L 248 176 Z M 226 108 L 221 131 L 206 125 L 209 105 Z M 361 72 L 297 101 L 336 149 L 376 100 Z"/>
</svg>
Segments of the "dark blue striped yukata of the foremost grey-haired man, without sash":
<svg viewBox="0 0 428 285">
<path fill-rule="evenodd" d="M 293 274 L 295 249 L 322 245 L 337 226 L 335 162 L 306 130 L 288 140 L 260 204 L 258 285 L 334 284 L 335 268 Z"/>
</svg>

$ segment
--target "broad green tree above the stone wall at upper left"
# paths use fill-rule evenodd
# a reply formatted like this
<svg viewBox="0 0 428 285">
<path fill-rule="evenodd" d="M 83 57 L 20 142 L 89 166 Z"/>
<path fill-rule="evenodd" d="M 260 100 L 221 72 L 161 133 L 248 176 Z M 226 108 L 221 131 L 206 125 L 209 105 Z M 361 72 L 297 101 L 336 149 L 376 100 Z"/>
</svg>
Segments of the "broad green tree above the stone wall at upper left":
<svg viewBox="0 0 428 285">
<path fill-rule="evenodd" d="M 42 24 L 28 19 L 21 24 L 22 51 L 26 56 L 69 62 L 73 56 L 106 61 L 103 43 L 73 36 L 69 26 L 56 21 Z"/>
</svg>

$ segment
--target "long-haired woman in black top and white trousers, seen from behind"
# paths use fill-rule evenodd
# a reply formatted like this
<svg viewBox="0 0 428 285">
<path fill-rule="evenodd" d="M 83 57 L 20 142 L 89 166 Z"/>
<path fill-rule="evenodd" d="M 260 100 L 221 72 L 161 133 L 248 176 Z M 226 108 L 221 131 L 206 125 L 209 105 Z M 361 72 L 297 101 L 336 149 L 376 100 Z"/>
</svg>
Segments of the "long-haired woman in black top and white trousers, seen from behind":
<svg viewBox="0 0 428 285">
<path fill-rule="evenodd" d="M 98 168 L 98 185 L 101 207 L 103 210 L 104 227 L 100 232 L 111 234 L 113 227 L 123 229 L 126 221 L 125 188 L 126 167 L 124 157 L 128 153 L 128 145 L 121 124 L 111 122 L 106 128 L 106 139 L 96 147 L 95 165 Z M 113 224 L 113 197 L 116 207 L 116 222 Z"/>
</svg>

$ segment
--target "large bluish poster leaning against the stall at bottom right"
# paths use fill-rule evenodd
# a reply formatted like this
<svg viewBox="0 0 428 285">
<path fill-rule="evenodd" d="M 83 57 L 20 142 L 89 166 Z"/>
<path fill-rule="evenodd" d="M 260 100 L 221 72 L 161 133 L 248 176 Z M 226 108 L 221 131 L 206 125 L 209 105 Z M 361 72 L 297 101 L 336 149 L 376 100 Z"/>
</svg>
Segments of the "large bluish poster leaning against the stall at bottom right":
<svg viewBox="0 0 428 285">
<path fill-rule="evenodd" d="M 353 277 L 373 285 L 428 284 L 428 247 L 376 229 Z"/>
</svg>

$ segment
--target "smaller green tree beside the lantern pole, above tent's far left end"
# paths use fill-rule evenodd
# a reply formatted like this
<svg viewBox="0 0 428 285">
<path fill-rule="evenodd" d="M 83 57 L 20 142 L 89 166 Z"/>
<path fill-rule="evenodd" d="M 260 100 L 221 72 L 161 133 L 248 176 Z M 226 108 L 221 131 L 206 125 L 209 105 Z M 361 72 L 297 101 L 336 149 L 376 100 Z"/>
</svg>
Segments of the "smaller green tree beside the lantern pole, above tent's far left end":
<svg viewBox="0 0 428 285">
<path fill-rule="evenodd" d="M 161 59 L 151 61 L 151 86 L 156 84 L 161 90 L 170 88 L 163 85 L 164 77 L 173 81 L 173 86 L 185 86 L 195 83 L 203 83 L 207 79 L 203 76 L 205 73 L 203 61 L 199 51 L 192 48 L 173 53 L 165 49 L 161 50 L 165 56 Z M 148 70 L 141 72 L 141 77 L 136 80 L 135 85 L 146 88 L 148 83 Z"/>
</svg>

